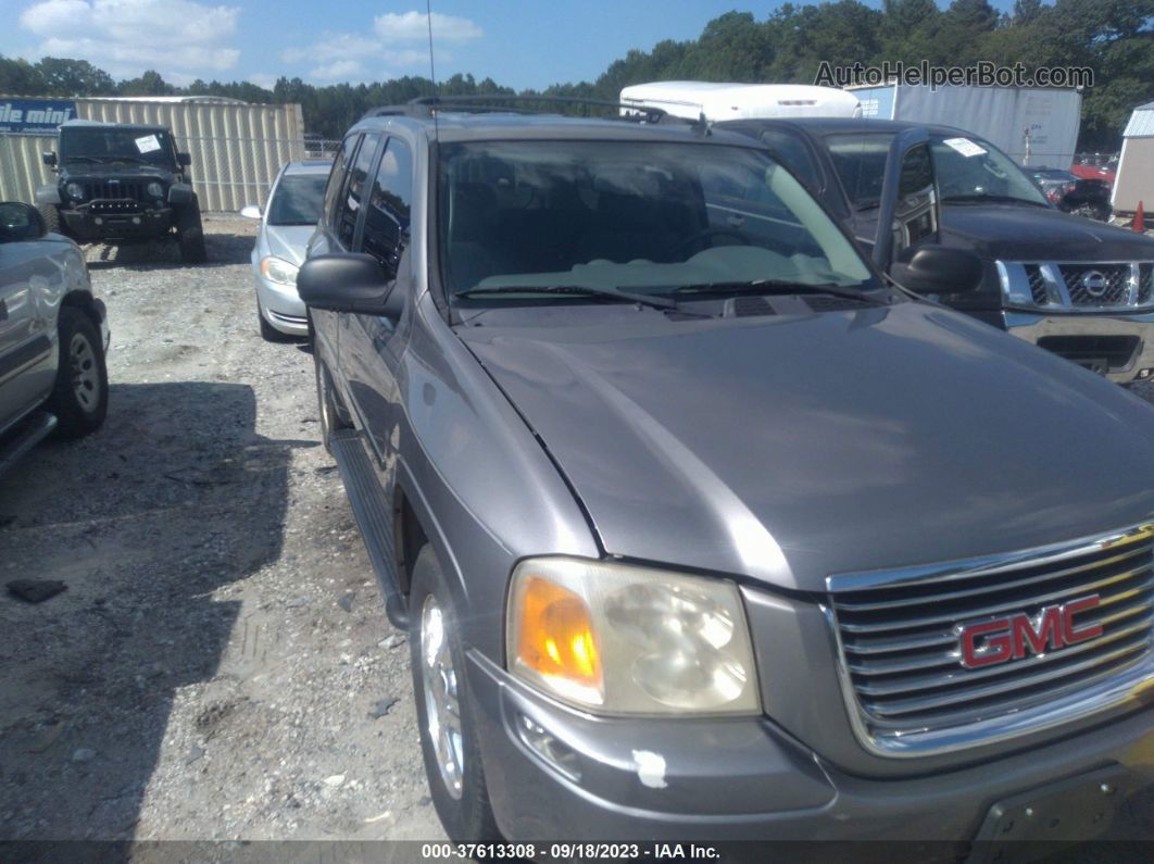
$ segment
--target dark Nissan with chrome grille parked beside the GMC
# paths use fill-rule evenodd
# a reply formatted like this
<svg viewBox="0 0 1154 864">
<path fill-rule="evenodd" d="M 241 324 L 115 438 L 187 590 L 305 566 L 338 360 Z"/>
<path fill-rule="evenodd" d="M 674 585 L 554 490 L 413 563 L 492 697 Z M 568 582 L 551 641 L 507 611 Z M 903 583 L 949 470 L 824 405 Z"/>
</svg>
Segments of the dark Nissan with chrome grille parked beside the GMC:
<svg viewBox="0 0 1154 864">
<path fill-rule="evenodd" d="M 771 146 L 869 250 L 890 144 L 919 127 L 812 118 L 734 120 L 718 128 Z M 1154 375 L 1154 238 L 1062 212 L 988 141 L 926 128 L 941 224 L 907 238 L 911 253 L 921 242 L 941 242 L 973 251 L 984 266 L 977 291 L 935 292 L 935 299 L 1110 381 Z M 740 224 L 751 217 L 729 218 Z"/>
</svg>

